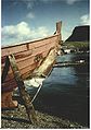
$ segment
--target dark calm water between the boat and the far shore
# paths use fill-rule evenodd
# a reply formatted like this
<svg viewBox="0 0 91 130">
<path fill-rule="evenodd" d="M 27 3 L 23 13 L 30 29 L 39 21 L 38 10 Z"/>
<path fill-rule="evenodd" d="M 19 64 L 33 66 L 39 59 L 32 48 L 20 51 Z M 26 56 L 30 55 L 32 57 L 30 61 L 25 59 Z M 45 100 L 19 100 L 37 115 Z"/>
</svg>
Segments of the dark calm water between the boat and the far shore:
<svg viewBox="0 0 91 130">
<path fill-rule="evenodd" d="M 89 127 L 89 54 L 70 54 L 57 61 L 86 60 L 86 66 L 54 68 L 34 102 L 35 108 Z M 37 90 L 28 90 L 34 95 Z"/>
</svg>

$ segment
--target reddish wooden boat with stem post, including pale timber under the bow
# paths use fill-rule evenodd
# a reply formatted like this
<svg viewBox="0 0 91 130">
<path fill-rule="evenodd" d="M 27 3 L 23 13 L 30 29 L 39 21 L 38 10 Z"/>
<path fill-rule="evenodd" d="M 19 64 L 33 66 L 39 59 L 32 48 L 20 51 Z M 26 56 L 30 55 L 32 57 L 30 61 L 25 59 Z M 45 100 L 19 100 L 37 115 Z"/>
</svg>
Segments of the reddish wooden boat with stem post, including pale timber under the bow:
<svg viewBox="0 0 91 130">
<path fill-rule="evenodd" d="M 54 63 L 58 44 L 61 44 L 61 22 L 56 23 L 56 33 L 50 37 L 1 48 L 2 108 L 17 107 L 17 102 L 12 99 L 12 94 L 18 83 L 15 76 L 15 68 L 12 68 L 10 57 L 14 56 L 14 66 L 18 70 L 22 83 L 24 83 L 23 80 L 31 75 L 32 79 L 35 76 L 48 75 Z"/>
</svg>

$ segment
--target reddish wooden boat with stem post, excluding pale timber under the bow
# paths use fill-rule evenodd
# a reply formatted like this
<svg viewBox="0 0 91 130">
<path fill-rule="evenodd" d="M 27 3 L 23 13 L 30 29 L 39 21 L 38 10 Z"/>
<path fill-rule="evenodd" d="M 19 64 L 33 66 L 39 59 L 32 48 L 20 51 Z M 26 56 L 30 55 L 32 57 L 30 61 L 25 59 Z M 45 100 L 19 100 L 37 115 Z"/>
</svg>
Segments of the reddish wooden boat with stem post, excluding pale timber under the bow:
<svg viewBox="0 0 91 130">
<path fill-rule="evenodd" d="M 56 33 L 52 36 L 34 40 L 26 42 L 14 46 L 8 46 L 1 48 L 1 71 L 2 71 L 2 84 L 1 84 L 1 103 L 2 107 L 13 107 L 12 92 L 17 87 L 12 68 L 6 70 L 6 57 L 12 54 L 15 57 L 16 64 L 22 74 L 22 79 L 28 78 L 36 68 L 40 67 L 41 62 L 47 58 L 50 50 L 57 48 L 61 42 L 61 22 L 56 23 Z M 4 74 L 5 78 L 4 78 Z M 12 103 L 11 105 L 9 103 Z"/>
</svg>

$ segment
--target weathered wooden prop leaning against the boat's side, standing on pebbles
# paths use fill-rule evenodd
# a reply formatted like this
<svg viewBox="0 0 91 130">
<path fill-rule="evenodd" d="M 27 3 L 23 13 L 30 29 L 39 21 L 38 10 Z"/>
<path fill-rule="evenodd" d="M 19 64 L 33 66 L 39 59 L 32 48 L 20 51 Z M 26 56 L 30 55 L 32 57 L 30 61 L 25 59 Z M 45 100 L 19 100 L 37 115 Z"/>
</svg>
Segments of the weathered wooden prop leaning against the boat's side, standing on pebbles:
<svg viewBox="0 0 91 130">
<path fill-rule="evenodd" d="M 36 111 L 31 104 L 30 96 L 25 90 L 24 81 L 20 73 L 18 67 L 16 66 L 14 55 L 10 55 L 8 57 L 9 57 L 9 61 L 11 63 L 12 71 L 14 73 L 15 81 L 16 81 L 18 90 L 20 90 L 20 95 L 21 95 L 22 99 L 24 101 L 24 105 L 26 107 L 26 111 L 27 111 L 29 121 L 31 121 L 32 123 L 37 123 Z"/>
</svg>

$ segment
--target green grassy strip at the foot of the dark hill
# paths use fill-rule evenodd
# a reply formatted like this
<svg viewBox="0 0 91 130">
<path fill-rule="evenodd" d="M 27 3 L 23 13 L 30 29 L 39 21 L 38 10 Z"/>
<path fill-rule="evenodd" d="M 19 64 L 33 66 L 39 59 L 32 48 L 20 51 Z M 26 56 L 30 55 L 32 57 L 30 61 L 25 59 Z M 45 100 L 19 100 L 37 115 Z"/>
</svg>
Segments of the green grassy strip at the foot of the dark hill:
<svg viewBox="0 0 91 130">
<path fill-rule="evenodd" d="M 89 50 L 89 42 L 65 42 L 63 46 L 67 48 L 74 48 L 79 50 Z"/>
</svg>

